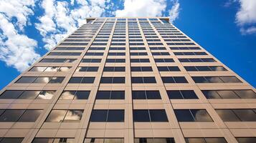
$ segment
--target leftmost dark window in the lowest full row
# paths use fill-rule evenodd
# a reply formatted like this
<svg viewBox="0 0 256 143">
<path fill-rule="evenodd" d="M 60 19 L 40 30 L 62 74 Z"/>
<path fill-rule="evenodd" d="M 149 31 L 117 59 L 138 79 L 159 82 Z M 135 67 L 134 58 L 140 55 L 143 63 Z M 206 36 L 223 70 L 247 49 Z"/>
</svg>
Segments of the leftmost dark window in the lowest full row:
<svg viewBox="0 0 256 143">
<path fill-rule="evenodd" d="M 39 109 L 1 109 L 0 122 L 35 122 L 41 113 Z"/>
</svg>

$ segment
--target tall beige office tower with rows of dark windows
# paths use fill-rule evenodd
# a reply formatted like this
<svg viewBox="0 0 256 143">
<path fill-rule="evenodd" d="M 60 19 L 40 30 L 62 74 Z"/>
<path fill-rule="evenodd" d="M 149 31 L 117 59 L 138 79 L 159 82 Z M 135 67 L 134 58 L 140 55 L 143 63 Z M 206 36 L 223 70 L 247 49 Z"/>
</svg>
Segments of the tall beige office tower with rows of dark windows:
<svg viewBox="0 0 256 143">
<path fill-rule="evenodd" d="M 1 90 L 0 143 L 256 142 L 255 91 L 168 17 L 88 18 Z"/>
</svg>

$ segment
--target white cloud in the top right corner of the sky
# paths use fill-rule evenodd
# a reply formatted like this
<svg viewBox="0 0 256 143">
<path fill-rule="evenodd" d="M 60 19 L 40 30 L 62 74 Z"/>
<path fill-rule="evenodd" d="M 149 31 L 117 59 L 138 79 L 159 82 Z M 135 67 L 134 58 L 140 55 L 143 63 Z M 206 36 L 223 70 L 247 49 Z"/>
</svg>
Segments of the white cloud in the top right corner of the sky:
<svg viewBox="0 0 256 143">
<path fill-rule="evenodd" d="M 236 23 L 242 34 L 256 33 L 256 1 L 239 0 L 240 9 L 236 14 Z"/>
</svg>

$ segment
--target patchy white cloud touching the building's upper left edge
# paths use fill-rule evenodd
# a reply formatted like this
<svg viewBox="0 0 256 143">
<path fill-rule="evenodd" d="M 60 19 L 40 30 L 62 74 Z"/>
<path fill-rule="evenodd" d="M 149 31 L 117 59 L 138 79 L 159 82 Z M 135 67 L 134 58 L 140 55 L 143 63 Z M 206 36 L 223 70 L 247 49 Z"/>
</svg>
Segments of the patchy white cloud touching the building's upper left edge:
<svg viewBox="0 0 256 143">
<path fill-rule="evenodd" d="M 45 49 L 52 49 L 57 42 L 74 31 L 77 26 L 85 23 L 85 18 L 90 16 L 100 16 L 103 14 L 105 1 L 77 0 L 79 5 L 72 9 L 66 1 L 44 0 L 41 7 L 44 9 L 44 15 L 39 17 L 39 23 L 36 28 L 43 36 Z M 71 5 L 74 4 L 73 2 Z"/>
</svg>

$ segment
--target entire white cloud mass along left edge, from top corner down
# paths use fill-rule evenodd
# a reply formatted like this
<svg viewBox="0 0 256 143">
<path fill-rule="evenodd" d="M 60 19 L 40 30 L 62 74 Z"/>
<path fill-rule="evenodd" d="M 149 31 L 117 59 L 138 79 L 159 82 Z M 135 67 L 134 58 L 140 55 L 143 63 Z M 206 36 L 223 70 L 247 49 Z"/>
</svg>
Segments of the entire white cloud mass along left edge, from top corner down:
<svg viewBox="0 0 256 143">
<path fill-rule="evenodd" d="M 24 35 L 24 26 L 29 24 L 28 16 L 34 14 L 33 7 L 34 0 L 0 2 L 0 60 L 18 71 L 24 71 L 39 58 L 34 51 L 37 41 Z"/>
</svg>

